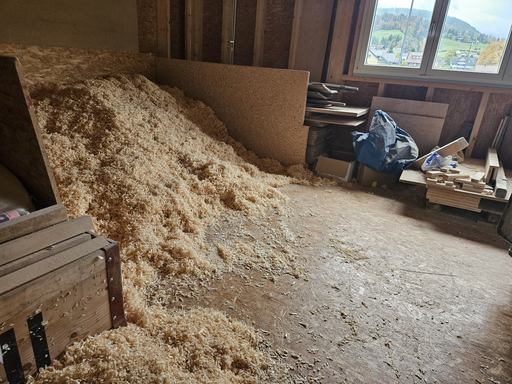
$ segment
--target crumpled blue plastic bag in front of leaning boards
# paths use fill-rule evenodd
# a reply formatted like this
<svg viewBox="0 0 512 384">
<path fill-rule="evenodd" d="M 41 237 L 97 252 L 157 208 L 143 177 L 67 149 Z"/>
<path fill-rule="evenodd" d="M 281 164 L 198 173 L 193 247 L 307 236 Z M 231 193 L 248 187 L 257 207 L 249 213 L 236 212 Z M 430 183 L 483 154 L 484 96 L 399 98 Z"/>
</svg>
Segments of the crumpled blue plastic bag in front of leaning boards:
<svg viewBox="0 0 512 384">
<path fill-rule="evenodd" d="M 369 133 L 352 132 L 357 160 L 377 172 L 400 173 L 418 158 L 414 139 L 386 112 L 378 110 Z"/>
</svg>

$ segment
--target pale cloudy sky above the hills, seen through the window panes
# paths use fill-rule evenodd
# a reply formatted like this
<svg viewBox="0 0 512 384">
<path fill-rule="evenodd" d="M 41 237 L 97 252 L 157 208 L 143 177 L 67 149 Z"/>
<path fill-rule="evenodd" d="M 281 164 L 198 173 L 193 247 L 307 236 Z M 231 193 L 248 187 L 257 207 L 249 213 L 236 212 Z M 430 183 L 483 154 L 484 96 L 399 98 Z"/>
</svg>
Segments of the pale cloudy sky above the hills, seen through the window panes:
<svg viewBox="0 0 512 384">
<path fill-rule="evenodd" d="M 434 0 L 414 0 L 415 9 L 432 11 Z M 411 0 L 378 0 L 379 8 L 409 8 Z M 511 0 L 451 0 L 448 15 L 464 20 L 481 33 L 508 37 L 512 24 Z"/>
</svg>

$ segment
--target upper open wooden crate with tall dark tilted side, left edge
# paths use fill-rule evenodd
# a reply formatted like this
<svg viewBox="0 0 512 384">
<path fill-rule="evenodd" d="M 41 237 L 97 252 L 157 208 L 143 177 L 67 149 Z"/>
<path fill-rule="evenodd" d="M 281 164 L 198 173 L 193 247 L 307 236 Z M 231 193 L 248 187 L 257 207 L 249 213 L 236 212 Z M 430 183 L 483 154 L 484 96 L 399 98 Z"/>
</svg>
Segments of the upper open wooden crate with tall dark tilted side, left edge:
<svg viewBox="0 0 512 384">
<path fill-rule="evenodd" d="M 0 56 L 0 163 L 36 207 L 30 215 L 0 223 L 0 243 L 67 220 L 21 64 L 10 56 Z"/>
</svg>

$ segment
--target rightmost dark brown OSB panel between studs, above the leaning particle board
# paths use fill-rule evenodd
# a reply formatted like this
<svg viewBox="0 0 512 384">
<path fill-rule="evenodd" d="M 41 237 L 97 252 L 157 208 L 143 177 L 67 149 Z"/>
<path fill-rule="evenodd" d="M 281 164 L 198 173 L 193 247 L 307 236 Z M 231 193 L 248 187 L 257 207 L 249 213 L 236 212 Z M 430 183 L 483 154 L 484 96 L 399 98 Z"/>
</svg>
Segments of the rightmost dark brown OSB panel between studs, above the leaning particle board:
<svg viewBox="0 0 512 384">
<path fill-rule="evenodd" d="M 294 8 L 294 0 L 268 0 L 264 67 L 288 68 Z"/>
</svg>

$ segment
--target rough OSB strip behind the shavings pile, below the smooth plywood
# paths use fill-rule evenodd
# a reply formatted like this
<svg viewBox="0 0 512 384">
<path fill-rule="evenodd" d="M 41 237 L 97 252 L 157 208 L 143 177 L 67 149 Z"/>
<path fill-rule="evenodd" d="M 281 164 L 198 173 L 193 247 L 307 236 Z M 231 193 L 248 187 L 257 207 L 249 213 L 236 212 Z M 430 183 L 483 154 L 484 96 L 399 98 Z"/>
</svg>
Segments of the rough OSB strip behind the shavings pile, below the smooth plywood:
<svg viewBox="0 0 512 384">
<path fill-rule="evenodd" d="M 29 85 L 69 83 L 119 73 L 140 73 L 155 79 L 152 54 L 0 44 L 0 55 L 17 57 Z"/>
</svg>

